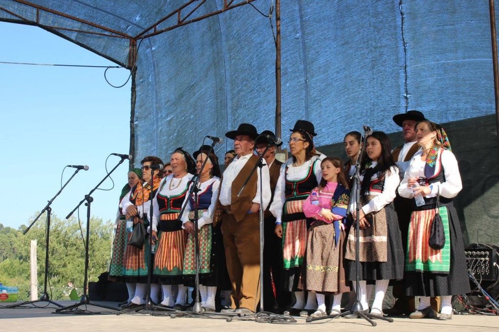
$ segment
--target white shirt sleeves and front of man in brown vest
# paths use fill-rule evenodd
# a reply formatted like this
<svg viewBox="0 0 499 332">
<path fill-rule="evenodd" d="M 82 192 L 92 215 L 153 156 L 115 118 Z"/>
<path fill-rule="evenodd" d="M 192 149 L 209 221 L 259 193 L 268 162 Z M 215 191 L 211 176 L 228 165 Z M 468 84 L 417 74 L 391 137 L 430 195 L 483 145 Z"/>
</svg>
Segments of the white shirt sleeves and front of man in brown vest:
<svg viewBox="0 0 499 332">
<path fill-rule="evenodd" d="M 246 156 L 237 156 L 234 160 L 227 166 L 227 169 L 224 171 L 224 179 L 222 180 L 222 185 L 220 188 L 220 203 L 222 205 L 228 206 L 231 205 L 232 201 L 232 183 L 234 179 L 238 176 L 239 172 L 246 165 L 248 160 L 253 154 L 250 153 Z M 265 159 L 262 159 L 263 165 L 265 166 Z M 254 196 L 252 202 L 260 204 L 260 181 L 262 182 L 263 192 L 261 193 L 261 199 L 263 203 L 263 210 L 265 210 L 270 202 L 270 175 L 268 173 L 268 167 L 261 168 L 261 176 L 260 179 L 260 170 L 256 168 L 255 170 L 258 178 L 256 182 L 256 195 Z"/>
</svg>

